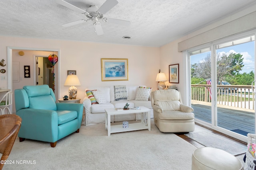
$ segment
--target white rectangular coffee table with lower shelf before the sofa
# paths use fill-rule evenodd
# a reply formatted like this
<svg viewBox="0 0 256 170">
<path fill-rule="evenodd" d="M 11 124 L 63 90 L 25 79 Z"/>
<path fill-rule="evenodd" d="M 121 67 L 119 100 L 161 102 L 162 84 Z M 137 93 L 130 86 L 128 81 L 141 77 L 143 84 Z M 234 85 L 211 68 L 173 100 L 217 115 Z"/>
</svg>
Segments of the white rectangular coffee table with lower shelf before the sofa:
<svg viewBox="0 0 256 170">
<path fill-rule="evenodd" d="M 146 114 L 148 117 L 148 121 L 146 121 Z M 139 123 L 129 123 L 128 128 L 123 128 L 123 125 L 110 125 L 110 116 L 111 115 L 121 115 L 121 114 L 128 114 L 128 113 L 143 113 L 141 117 L 141 122 Z M 108 136 L 110 136 L 110 133 L 118 133 L 118 132 L 128 132 L 128 131 L 137 131 L 142 129 L 148 129 L 148 131 L 151 130 L 150 128 L 150 109 L 147 107 L 140 107 L 140 110 L 136 109 L 129 109 L 129 110 L 121 110 L 117 111 L 114 108 L 108 108 L 105 109 L 105 127 L 108 130 Z"/>
</svg>

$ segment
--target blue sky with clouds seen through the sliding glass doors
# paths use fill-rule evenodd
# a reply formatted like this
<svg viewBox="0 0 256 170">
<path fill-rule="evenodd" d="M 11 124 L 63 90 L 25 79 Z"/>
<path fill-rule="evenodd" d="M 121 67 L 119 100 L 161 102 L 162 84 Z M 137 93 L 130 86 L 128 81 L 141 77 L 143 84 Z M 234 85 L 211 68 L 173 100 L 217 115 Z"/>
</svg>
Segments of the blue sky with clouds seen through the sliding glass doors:
<svg viewBox="0 0 256 170">
<path fill-rule="evenodd" d="M 242 58 L 244 58 L 243 60 L 244 67 L 242 68 L 240 73 L 244 73 L 244 72 L 249 73 L 250 71 L 254 72 L 254 57 L 255 57 L 254 42 L 255 41 L 251 41 L 251 42 L 243 43 L 240 45 L 234 45 L 231 47 L 218 49 L 217 53 L 226 53 L 226 54 L 240 53 L 242 55 Z M 191 56 L 190 57 L 191 64 L 202 63 L 203 59 L 208 55 L 208 53 L 210 52 Z"/>
</svg>

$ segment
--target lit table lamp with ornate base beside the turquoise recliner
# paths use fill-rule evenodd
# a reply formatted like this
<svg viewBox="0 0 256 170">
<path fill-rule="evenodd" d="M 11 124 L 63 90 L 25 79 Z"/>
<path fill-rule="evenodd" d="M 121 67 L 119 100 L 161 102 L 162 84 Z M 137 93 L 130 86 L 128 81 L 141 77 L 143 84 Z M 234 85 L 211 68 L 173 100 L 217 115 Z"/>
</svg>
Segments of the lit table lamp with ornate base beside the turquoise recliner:
<svg viewBox="0 0 256 170">
<path fill-rule="evenodd" d="M 76 99 L 77 95 L 77 88 L 75 86 L 80 86 L 80 81 L 77 77 L 77 75 L 70 74 L 67 76 L 64 86 L 71 86 L 68 89 L 69 98 L 70 99 Z"/>
</svg>

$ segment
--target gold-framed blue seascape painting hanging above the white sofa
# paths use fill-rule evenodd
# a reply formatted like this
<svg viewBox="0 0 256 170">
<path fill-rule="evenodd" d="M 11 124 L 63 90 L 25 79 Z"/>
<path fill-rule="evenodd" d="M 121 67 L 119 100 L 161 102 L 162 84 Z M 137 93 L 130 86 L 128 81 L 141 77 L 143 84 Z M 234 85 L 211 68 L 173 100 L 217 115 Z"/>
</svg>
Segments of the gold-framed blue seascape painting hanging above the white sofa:
<svg viewBox="0 0 256 170">
<path fill-rule="evenodd" d="M 102 81 L 128 80 L 128 59 L 101 59 Z"/>
</svg>

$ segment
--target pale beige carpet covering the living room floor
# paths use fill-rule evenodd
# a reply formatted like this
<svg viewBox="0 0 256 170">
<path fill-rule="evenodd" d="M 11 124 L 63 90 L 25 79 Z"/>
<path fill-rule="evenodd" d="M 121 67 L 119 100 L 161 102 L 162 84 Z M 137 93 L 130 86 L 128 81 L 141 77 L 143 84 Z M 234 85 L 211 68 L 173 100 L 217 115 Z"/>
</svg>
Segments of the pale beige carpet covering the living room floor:
<svg viewBox="0 0 256 170">
<path fill-rule="evenodd" d="M 151 120 L 151 131 L 114 133 L 105 124 L 82 125 L 58 141 L 16 140 L 4 170 L 189 170 L 196 149 L 173 133 L 161 133 Z M 16 161 L 20 162 L 18 164 Z M 23 162 L 25 161 L 25 162 Z"/>
</svg>

